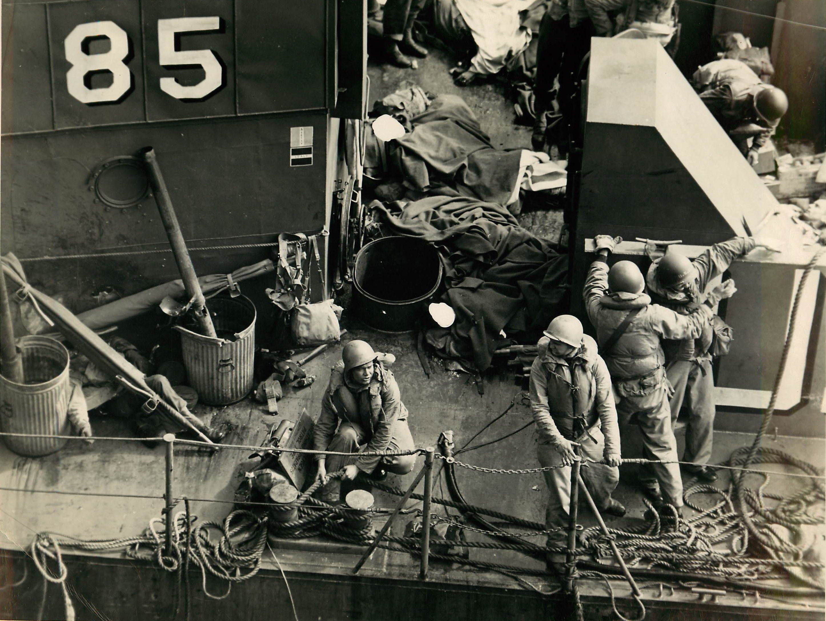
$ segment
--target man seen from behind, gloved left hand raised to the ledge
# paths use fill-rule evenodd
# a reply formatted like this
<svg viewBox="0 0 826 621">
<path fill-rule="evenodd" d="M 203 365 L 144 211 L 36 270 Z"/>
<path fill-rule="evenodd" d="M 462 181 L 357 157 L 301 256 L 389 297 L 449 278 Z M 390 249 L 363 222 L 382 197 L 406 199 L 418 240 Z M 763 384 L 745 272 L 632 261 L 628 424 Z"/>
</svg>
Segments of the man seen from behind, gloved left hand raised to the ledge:
<svg viewBox="0 0 826 621">
<path fill-rule="evenodd" d="M 643 293 L 645 279 L 634 263 L 619 261 L 608 269 L 608 255 L 621 240 L 597 235 L 594 241 L 597 256 L 588 272 L 583 297 L 618 398 L 617 414 L 624 421 L 636 415 L 646 459 L 676 462 L 668 407 L 671 387 L 660 339 L 700 336 L 702 326 L 711 318 L 711 309 L 703 304 L 694 313 L 680 315 L 652 304 Z M 676 463 L 640 468 L 638 480 L 658 509 L 668 504 L 681 513 L 682 481 Z"/>
</svg>

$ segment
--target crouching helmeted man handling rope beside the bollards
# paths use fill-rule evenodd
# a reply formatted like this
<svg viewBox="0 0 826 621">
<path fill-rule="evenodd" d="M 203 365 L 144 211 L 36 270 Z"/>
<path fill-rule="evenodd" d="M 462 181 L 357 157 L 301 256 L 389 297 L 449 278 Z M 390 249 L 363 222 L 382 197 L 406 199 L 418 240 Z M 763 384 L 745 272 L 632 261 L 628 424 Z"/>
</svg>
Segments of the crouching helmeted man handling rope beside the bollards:
<svg viewBox="0 0 826 621">
<path fill-rule="evenodd" d="M 407 426 L 407 408 L 401 402 L 399 387 L 389 365 L 392 354 L 381 354 L 364 341 L 350 341 L 333 367 L 330 384 L 321 400 L 316 421 L 314 448 L 344 455 L 316 455 L 316 481 L 321 500 L 339 501 L 341 482 L 327 473 L 344 470 L 344 480 L 353 481 L 359 473 L 382 478 L 384 473 L 406 474 L 415 466 L 415 455 L 392 457 L 358 456 L 359 451 L 405 451 L 415 448 Z"/>
</svg>

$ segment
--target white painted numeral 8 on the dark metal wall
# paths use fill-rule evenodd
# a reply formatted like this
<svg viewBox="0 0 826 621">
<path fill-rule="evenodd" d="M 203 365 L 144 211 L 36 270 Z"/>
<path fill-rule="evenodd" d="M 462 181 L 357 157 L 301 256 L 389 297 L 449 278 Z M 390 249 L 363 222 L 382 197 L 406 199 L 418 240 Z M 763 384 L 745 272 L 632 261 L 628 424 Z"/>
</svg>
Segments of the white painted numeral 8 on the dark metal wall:
<svg viewBox="0 0 826 621">
<path fill-rule="evenodd" d="M 110 49 L 105 54 L 86 54 L 83 41 L 90 37 L 105 36 L 110 42 Z M 114 21 L 92 21 L 75 26 L 64 41 L 66 60 L 72 65 L 66 73 L 69 94 L 83 103 L 102 103 L 117 101 L 132 86 L 132 74 L 123 64 L 129 54 L 129 37 Z M 112 85 L 105 88 L 86 86 L 88 73 L 108 71 L 112 73 Z"/>
</svg>

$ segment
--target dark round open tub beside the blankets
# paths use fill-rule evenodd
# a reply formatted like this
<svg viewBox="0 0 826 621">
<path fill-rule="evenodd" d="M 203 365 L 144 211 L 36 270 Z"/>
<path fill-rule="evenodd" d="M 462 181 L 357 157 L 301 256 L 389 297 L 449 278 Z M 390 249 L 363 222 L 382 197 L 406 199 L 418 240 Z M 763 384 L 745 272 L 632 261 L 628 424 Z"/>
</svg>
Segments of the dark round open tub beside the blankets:
<svg viewBox="0 0 826 621">
<path fill-rule="evenodd" d="M 439 252 L 424 239 L 377 239 L 356 256 L 355 312 L 377 330 L 407 332 L 441 281 Z"/>
</svg>

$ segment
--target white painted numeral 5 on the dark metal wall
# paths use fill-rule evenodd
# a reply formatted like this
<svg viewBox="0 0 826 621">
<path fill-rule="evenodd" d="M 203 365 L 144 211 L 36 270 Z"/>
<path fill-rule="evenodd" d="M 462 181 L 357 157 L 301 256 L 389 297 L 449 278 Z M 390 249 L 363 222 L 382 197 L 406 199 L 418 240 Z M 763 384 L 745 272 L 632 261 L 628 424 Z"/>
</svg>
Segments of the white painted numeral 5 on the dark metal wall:
<svg viewBox="0 0 826 621">
<path fill-rule="evenodd" d="M 175 34 L 178 32 L 216 31 L 221 28 L 219 17 L 179 17 L 158 20 L 158 55 L 164 67 L 200 65 L 204 79 L 195 85 L 185 87 L 175 78 L 160 78 L 160 89 L 175 99 L 203 99 L 224 84 L 224 68 L 211 49 L 175 49 Z"/>
</svg>

